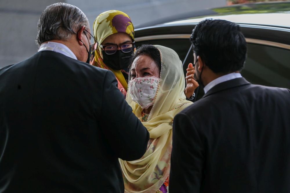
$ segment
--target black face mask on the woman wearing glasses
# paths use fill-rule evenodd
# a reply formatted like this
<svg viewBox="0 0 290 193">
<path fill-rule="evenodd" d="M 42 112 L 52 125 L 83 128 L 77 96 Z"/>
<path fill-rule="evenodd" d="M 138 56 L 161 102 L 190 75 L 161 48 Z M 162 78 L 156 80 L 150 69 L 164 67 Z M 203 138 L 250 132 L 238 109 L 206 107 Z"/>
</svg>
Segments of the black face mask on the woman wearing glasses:
<svg viewBox="0 0 290 193">
<path fill-rule="evenodd" d="M 134 49 L 133 49 L 134 50 Z M 117 50 L 115 54 L 106 54 L 104 50 L 102 50 L 103 54 L 103 62 L 114 70 L 128 70 L 128 65 L 130 62 L 130 58 L 134 51 L 124 53 L 121 50 Z"/>
</svg>

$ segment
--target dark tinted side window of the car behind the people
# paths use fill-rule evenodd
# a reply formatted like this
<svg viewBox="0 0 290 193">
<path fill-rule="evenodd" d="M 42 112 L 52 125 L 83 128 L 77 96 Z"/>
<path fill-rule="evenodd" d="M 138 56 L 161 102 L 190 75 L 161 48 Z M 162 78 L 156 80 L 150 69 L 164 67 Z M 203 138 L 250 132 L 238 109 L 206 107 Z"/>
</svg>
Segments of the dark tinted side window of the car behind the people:
<svg viewBox="0 0 290 193">
<path fill-rule="evenodd" d="M 193 61 L 193 51 L 187 52 L 191 46 L 189 39 L 162 39 L 137 42 L 136 47 L 142 44 L 163 45 L 177 52 L 184 62 L 184 75 L 189 63 Z M 252 84 L 261 84 L 271 87 L 290 89 L 290 50 L 260 44 L 248 43 L 247 59 L 242 76 Z M 204 95 L 203 89 L 198 91 L 197 99 Z"/>
</svg>

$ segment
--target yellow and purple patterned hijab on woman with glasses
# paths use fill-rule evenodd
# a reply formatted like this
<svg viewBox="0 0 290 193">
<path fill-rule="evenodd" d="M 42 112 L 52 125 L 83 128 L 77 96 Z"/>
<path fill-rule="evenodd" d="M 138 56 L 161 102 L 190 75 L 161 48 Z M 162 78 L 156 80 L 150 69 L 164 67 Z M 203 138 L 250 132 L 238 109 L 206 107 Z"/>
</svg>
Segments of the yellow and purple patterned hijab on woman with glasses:
<svg viewBox="0 0 290 193">
<path fill-rule="evenodd" d="M 101 13 L 94 21 L 93 32 L 94 37 L 99 44 L 102 44 L 104 39 L 106 39 L 108 36 L 120 32 L 128 34 L 134 41 L 133 23 L 130 17 L 122 11 L 110 10 Z M 120 70 L 113 70 L 104 64 L 102 50 L 100 47 L 98 47 L 98 49 L 95 51 L 95 58 L 91 64 L 113 71 L 118 80 L 118 88 L 124 88 L 127 90 L 128 85 L 122 72 Z"/>
</svg>

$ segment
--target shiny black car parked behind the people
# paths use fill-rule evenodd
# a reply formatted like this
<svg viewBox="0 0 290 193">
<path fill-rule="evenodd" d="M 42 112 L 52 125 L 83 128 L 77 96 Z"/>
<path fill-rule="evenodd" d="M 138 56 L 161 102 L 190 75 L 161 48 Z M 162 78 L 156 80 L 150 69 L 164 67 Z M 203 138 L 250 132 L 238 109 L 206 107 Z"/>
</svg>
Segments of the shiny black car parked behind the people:
<svg viewBox="0 0 290 193">
<path fill-rule="evenodd" d="M 248 46 L 241 73 L 249 82 L 290 89 L 290 1 L 233 5 L 137 26 L 136 46 L 155 44 L 174 49 L 186 72 L 188 64 L 193 63 L 189 37 L 195 25 L 207 18 L 241 26 Z M 202 95 L 200 91 L 198 98 Z"/>
</svg>

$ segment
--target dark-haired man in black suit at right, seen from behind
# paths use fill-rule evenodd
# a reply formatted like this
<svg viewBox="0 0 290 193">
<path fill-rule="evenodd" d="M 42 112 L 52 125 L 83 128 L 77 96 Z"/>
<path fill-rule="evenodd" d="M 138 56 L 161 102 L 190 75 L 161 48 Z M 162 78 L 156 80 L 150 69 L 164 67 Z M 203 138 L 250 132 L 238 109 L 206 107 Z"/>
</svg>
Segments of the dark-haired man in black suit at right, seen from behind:
<svg viewBox="0 0 290 193">
<path fill-rule="evenodd" d="M 254 85 L 240 71 L 239 25 L 200 22 L 191 35 L 204 96 L 173 124 L 170 192 L 290 192 L 290 91 Z"/>
</svg>

